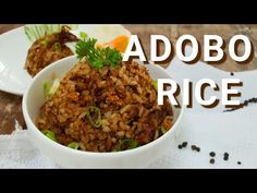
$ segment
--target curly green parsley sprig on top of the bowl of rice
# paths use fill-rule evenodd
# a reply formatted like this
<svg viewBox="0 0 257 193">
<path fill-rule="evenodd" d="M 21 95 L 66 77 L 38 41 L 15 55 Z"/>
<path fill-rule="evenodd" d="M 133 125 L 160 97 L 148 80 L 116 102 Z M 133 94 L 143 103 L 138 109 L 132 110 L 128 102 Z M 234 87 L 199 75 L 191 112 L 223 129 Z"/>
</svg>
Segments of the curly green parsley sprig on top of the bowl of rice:
<svg viewBox="0 0 257 193">
<path fill-rule="evenodd" d="M 96 47 L 97 39 L 82 39 L 76 44 L 77 58 L 82 60 L 84 57 L 94 69 L 101 69 L 103 65 L 117 69 L 122 61 L 122 55 L 117 49 L 109 47 L 100 49 Z"/>
</svg>

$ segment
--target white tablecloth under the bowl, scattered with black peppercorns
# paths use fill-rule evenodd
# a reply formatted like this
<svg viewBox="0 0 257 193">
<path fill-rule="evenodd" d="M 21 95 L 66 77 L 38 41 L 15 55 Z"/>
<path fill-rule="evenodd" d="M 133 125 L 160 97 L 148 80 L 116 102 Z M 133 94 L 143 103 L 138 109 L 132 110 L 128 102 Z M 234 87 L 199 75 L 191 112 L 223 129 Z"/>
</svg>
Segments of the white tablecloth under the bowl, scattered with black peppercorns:
<svg viewBox="0 0 257 193">
<path fill-rule="evenodd" d="M 195 84 L 197 80 L 208 77 L 221 86 L 222 77 L 238 77 L 244 83 L 240 89 L 241 100 L 257 96 L 257 71 L 234 73 L 234 76 L 231 76 L 230 73 L 205 63 L 188 65 L 178 58 L 172 60 L 168 71 L 179 83 L 183 79 L 191 79 Z M 207 89 L 207 96 L 210 94 L 218 94 L 218 97 L 221 95 Z M 185 109 L 183 125 L 173 146 L 149 168 L 257 168 L 257 104 L 232 112 L 223 110 L 222 105 L 205 109 L 194 100 L 193 109 Z M 184 141 L 188 142 L 187 147 L 179 149 L 178 145 Z M 200 152 L 193 152 L 191 145 L 199 146 Z M 209 162 L 210 152 L 216 153 L 213 165 Z M 228 161 L 223 160 L 224 152 L 230 154 Z M 242 165 L 237 165 L 237 161 Z M 12 135 L 0 136 L 0 167 L 57 166 L 30 144 L 27 131 L 17 129 Z"/>
</svg>

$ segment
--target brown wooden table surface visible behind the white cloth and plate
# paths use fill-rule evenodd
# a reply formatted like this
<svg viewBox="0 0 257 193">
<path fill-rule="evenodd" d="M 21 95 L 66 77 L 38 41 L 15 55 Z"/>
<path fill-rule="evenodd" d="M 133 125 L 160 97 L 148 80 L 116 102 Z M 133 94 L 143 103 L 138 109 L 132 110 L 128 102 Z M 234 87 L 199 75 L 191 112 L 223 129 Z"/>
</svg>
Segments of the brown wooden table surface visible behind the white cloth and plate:
<svg viewBox="0 0 257 193">
<path fill-rule="evenodd" d="M 15 27 L 22 26 L 20 24 L 0 24 L 0 34 L 5 33 Z M 176 39 L 183 34 L 191 34 L 196 37 L 199 41 L 201 55 L 200 60 L 203 60 L 203 39 L 205 34 L 209 35 L 219 35 L 221 36 L 225 45 L 228 45 L 230 38 L 235 34 L 247 35 L 255 48 L 257 46 L 257 25 L 154 25 L 154 24 L 136 24 L 136 25 L 124 25 L 132 34 L 138 35 L 143 44 L 144 51 L 146 56 L 149 56 L 150 48 L 150 35 L 166 35 L 172 43 L 175 45 Z M 238 51 L 240 51 L 238 47 Z M 160 47 L 160 52 L 163 50 L 163 47 Z M 229 71 L 229 72 L 238 72 L 247 70 L 257 69 L 257 52 L 254 51 L 253 59 L 248 64 L 238 64 L 234 62 L 228 55 L 228 46 L 224 49 L 227 58 L 221 63 L 212 63 L 211 65 Z M 160 63 L 164 68 L 168 63 Z M 0 92 L 0 134 L 10 134 L 14 130 L 15 120 L 23 126 L 26 128 L 25 121 L 22 114 L 22 97 Z"/>
</svg>

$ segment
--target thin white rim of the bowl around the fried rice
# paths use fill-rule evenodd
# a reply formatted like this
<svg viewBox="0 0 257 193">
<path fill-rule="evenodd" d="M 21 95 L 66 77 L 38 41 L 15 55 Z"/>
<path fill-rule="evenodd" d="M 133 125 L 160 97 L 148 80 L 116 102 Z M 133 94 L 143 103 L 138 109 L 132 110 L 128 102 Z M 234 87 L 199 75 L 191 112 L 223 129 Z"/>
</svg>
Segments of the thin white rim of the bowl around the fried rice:
<svg viewBox="0 0 257 193">
<path fill-rule="evenodd" d="M 142 152 L 147 152 L 148 149 L 152 148 L 154 146 L 158 146 L 158 144 L 161 143 L 161 141 L 166 141 L 169 140 L 168 137 L 173 137 L 174 132 L 178 128 L 178 124 L 181 123 L 181 119 L 182 116 L 184 114 L 184 106 L 181 105 L 180 108 L 180 113 L 178 114 L 178 118 L 174 122 L 174 124 L 172 124 L 172 128 L 162 136 L 158 137 L 157 140 L 154 140 L 151 142 L 149 142 L 148 144 L 145 144 L 143 146 L 133 148 L 133 149 L 127 149 L 127 150 L 121 150 L 121 152 L 106 152 L 106 153 L 98 153 L 98 152 L 86 152 L 86 150 L 77 150 L 77 149 L 73 149 L 70 148 L 68 146 L 64 146 L 58 142 L 53 142 L 52 140 L 48 138 L 47 136 L 45 136 L 40 130 L 36 126 L 36 124 L 34 123 L 34 121 L 32 121 L 30 116 L 28 114 L 28 110 L 27 110 L 27 97 L 28 94 L 33 87 L 33 85 L 35 84 L 35 82 L 37 82 L 37 80 L 45 73 L 47 73 L 48 71 L 51 71 L 52 68 L 54 68 L 56 65 L 61 65 L 61 63 L 65 60 L 74 60 L 76 56 L 71 56 L 71 57 L 66 57 L 63 58 L 61 60 L 58 60 L 56 62 L 53 62 L 52 64 L 46 67 L 44 70 L 41 70 L 32 81 L 32 83 L 29 84 L 29 86 L 27 87 L 24 96 L 23 96 L 23 100 L 22 100 L 22 110 L 23 110 L 23 116 L 25 121 L 27 122 L 27 130 L 34 132 L 34 134 L 36 134 L 38 137 L 40 137 L 45 143 L 51 144 L 54 148 L 59 148 L 63 152 L 66 152 L 69 154 L 73 154 L 73 155 L 81 155 L 81 156 L 93 156 L 93 157 L 120 157 L 120 156 L 127 156 L 127 155 L 132 155 L 132 154 L 138 154 Z M 74 63 L 75 64 L 75 63 Z M 149 64 L 154 64 L 152 62 L 149 61 Z M 162 73 L 167 74 L 168 76 L 171 77 L 171 75 L 160 65 L 158 64 L 154 64 L 156 68 L 158 68 L 160 71 L 162 71 Z M 182 99 L 182 94 L 180 95 L 180 98 Z M 172 106 L 174 108 L 174 106 Z M 170 138 L 171 140 L 171 138 Z"/>
</svg>

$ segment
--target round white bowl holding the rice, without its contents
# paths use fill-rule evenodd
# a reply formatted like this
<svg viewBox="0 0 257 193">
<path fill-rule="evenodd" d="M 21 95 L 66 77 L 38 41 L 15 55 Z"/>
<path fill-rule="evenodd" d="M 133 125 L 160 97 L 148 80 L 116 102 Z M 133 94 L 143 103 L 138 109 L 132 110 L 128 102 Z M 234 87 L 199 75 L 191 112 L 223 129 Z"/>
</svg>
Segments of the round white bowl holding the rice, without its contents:
<svg viewBox="0 0 257 193">
<path fill-rule="evenodd" d="M 123 152 L 91 153 L 75 150 L 49 140 L 37 129 L 35 119 L 45 101 L 44 82 L 51 80 L 52 73 L 56 74 L 56 77 L 62 79 L 76 62 L 77 59 L 73 56 L 47 67 L 34 77 L 23 97 L 23 114 L 29 136 L 40 152 L 65 168 L 145 168 L 163 155 L 167 148 L 172 145 L 172 140 L 181 125 L 183 106 L 181 109 L 173 107 L 174 124 L 164 135 L 144 146 Z M 159 65 L 148 64 L 146 68 L 152 79 L 171 79 L 167 71 Z M 178 99 L 181 101 L 181 97 Z"/>
</svg>

